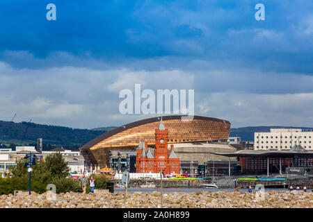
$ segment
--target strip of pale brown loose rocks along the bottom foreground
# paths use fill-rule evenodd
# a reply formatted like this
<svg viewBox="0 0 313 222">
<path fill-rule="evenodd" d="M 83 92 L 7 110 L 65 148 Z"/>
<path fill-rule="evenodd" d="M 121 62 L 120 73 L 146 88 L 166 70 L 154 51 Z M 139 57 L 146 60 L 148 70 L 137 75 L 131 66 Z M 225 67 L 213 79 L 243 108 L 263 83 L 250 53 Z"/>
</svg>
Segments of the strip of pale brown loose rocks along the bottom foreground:
<svg viewBox="0 0 313 222">
<path fill-rule="evenodd" d="M 127 207 L 161 207 L 160 192 L 153 193 L 134 192 L 127 194 Z M 30 196 L 0 196 L 0 208 L 13 207 L 122 207 L 124 194 L 122 192 L 110 194 L 79 194 L 66 193 L 51 195 L 31 194 Z M 190 194 L 173 192 L 163 194 L 163 207 L 313 207 L 313 192 L 304 191 L 269 191 L 265 193 L 264 199 L 259 194 L 228 191 L 195 191 Z"/>
</svg>

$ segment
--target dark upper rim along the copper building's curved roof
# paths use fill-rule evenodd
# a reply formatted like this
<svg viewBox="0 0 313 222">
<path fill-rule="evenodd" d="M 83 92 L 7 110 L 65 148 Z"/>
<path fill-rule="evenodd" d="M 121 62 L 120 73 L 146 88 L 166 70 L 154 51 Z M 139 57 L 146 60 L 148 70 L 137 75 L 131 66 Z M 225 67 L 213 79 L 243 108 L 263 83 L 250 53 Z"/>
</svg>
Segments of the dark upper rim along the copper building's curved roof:
<svg viewBox="0 0 313 222">
<path fill-rule="evenodd" d="M 175 115 L 175 116 L 163 116 L 162 119 L 163 121 L 166 120 L 172 120 L 172 119 L 182 119 L 182 115 Z M 230 124 L 230 121 L 224 120 L 224 119 L 216 119 L 216 118 L 211 118 L 211 117 L 200 117 L 200 116 L 194 116 L 193 119 L 200 119 L 200 120 L 206 120 L 206 121 L 217 121 L 217 122 L 223 122 L 223 123 L 228 123 Z M 115 134 L 121 133 L 122 131 L 128 130 L 130 128 L 134 128 L 136 126 L 141 126 L 141 125 L 145 125 L 147 123 L 154 123 L 154 122 L 158 122 L 161 121 L 161 117 L 152 117 L 149 119 L 142 119 L 139 121 L 135 121 L 132 123 L 128 123 L 124 126 L 120 126 L 118 128 L 115 128 L 113 130 L 110 130 L 102 135 L 99 135 L 98 137 L 96 137 L 95 139 L 93 139 L 92 141 L 88 142 L 87 144 L 81 146 L 80 150 L 88 150 L 90 147 L 95 146 L 95 144 L 98 144 L 99 142 L 102 142 L 104 139 L 107 139 Z"/>
</svg>

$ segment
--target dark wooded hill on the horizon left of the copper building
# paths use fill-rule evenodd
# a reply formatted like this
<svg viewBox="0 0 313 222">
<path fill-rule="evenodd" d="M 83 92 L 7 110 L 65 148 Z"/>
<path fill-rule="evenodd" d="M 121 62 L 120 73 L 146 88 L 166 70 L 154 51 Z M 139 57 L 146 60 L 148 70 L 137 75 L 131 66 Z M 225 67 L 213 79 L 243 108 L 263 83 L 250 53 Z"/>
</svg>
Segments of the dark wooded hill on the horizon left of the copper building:
<svg viewBox="0 0 313 222">
<path fill-rule="evenodd" d="M 0 143 L 32 144 L 42 138 L 45 144 L 82 146 L 106 130 L 76 129 L 29 122 L 0 121 Z"/>
</svg>

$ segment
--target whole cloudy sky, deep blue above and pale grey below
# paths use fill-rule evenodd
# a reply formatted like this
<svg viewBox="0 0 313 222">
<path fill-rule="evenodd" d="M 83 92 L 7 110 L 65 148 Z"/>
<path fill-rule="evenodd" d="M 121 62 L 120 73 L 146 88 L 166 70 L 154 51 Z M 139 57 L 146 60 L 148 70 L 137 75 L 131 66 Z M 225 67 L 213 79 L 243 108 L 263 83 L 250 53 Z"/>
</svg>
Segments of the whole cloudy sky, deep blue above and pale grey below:
<svg viewBox="0 0 313 222">
<path fill-rule="evenodd" d="M 0 16 L 1 119 L 119 126 L 146 117 L 118 112 L 141 83 L 195 89 L 195 114 L 234 127 L 313 126 L 312 1 L 12 0 Z"/>
</svg>

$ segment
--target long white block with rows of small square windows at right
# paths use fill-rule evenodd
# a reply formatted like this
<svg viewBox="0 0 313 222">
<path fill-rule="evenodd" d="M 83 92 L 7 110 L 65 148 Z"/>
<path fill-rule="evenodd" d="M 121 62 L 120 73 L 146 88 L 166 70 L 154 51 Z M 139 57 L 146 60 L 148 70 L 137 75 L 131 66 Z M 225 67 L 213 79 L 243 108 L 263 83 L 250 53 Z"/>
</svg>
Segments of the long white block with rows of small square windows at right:
<svg viewBox="0 0 313 222">
<path fill-rule="evenodd" d="M 255 132 L 255 150 L 286 151 L 294 146 L 313 150 L 313 131 L 294 128 L 272 128 L 270 132 Z"/>
</svg>

